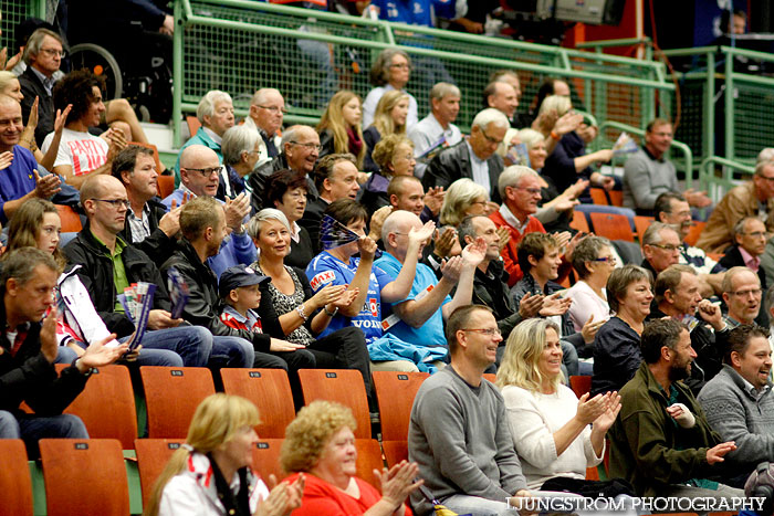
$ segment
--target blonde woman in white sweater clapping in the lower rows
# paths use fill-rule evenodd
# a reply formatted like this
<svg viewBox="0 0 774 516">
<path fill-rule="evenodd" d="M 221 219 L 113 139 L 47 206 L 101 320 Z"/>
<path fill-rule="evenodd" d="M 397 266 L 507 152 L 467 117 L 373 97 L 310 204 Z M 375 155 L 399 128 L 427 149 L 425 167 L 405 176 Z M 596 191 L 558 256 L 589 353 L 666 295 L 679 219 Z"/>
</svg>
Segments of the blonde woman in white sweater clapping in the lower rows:
<svg viewBox="0 0 774 516">
<path fill-rule="evenodd" d="M 583 481 L 586 467 L 602 462 L 605 433 L 620 410 L 616 392 L 578 400 L 563 385 L 561 365 L 558 327 L 533 318 L 511 333 L 498 369 L 496 385 L 530 489 L 557 476 Z"/>
</svg>

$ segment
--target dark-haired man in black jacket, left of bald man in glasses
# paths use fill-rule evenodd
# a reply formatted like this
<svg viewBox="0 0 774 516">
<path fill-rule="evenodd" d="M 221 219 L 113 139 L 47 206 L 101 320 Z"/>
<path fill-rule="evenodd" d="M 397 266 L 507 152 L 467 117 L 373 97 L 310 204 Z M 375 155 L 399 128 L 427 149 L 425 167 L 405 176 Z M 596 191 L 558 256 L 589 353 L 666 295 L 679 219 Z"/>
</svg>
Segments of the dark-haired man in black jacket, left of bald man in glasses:
<svg viewBox="0 0 774 516">
<path fill-rule="evenodd" d="M 124 183 L 130 204 L 121 238 L 150 256 L 154 263 L 164 263 L 175 251 L 175 235 L 180 230 L 180 207 L 167 213 L 157 198 L 158 171 L 154 151 L 137 145 L 124 148 L 113 159 L 113 177 Z"/>
</svg>

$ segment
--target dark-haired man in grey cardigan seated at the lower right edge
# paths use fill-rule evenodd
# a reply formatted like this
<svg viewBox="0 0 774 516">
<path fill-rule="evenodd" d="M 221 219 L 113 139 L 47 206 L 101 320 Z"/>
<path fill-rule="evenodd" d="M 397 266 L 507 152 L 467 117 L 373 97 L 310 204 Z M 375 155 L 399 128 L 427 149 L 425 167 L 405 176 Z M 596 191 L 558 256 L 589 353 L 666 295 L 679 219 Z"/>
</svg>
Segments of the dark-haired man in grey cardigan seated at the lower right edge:
<svg viewBox="0 0 774 516">
<path fill-rule="evenodd" d="M 759 462 L 774 457 L 774 394 L 768 331 L 755 325 L 731 330 L 723 369 L 699 393 L 707 420 L 736 450 L 726 456 L 743 483 Z"/>
</svg>

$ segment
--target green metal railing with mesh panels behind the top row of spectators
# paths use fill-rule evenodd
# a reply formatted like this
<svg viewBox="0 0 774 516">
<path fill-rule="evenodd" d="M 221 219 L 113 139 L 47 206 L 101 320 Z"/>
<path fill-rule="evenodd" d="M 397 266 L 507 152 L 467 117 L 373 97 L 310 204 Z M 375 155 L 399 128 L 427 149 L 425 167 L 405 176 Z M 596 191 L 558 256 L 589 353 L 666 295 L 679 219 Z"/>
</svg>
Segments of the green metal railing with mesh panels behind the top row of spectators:
<svg viewBox="0 0 774 516">
<path fill-rule="evenodd" d="M 407 89 L 417 98 L 420 117 L 429 110 L 432 84 L 451 78 L 460 87 L 457 123 L 463 129 L 482 106 L 489 75 L 500 69 L 519 72 L 524 104 L 545 77 L 561 76 L 579 99 L 577 108 L 598 119 L 640 127 L 669 113 L 674 89 L 663 65 L 652 61 L 265 2 L 176 0 L 175 18 L 174 119 L 194 112 L 199 98 L 215 88 L 229 92 L 237 113 L 244 115 L 252 93 L 272 86 L 285 97 L 289 123 L 313 124 L 335 91 L 366 95 L 370 65 L 389 46 L 411 56 Z M 179 144 L 175 124 L 175 145 Z"/>
</svg>

